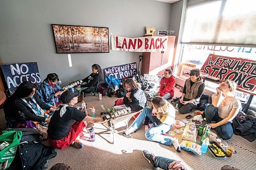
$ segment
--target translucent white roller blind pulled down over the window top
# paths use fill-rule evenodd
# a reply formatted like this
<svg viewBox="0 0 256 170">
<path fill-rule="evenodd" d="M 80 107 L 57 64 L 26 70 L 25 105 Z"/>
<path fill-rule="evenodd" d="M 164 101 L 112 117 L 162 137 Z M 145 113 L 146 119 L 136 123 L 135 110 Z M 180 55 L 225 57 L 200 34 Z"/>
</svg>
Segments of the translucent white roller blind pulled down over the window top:
<svg viewBox="0 0 256 170">
<path fill-rule="evenodd" d="M 255 0 L 217 0 L 188 6 L 182 43 L 256 45 L 255 6 Z"/>
</svg>

